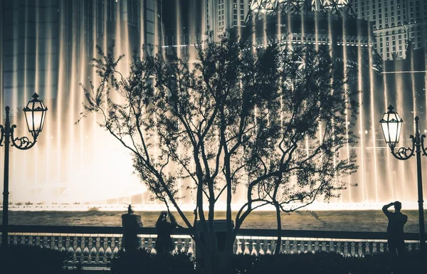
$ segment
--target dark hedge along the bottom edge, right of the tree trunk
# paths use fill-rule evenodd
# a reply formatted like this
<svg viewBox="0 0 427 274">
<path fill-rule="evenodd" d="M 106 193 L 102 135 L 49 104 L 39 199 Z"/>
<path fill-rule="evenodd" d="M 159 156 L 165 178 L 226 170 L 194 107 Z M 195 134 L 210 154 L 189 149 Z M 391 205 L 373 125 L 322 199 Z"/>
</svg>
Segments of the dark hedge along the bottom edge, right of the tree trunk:
<svg viewBox="0 0 427 274">
<path fill-rule="evenodd" d="M 288 273 L 288 274 L 391 274 L 427 273 L 427 258 L 418 253 L 397 257 L 378 253 L 364 257 L 343 256 L 334 252 L 281 253 L 279 256 L 234 255 L 229 274 Z"/>
</svg>

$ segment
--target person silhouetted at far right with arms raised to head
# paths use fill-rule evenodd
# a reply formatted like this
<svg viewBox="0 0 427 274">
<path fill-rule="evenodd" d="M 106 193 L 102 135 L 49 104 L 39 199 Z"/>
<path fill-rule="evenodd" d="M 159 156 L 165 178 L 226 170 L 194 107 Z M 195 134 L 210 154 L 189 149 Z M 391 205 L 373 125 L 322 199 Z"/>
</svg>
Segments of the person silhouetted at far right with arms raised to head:
<svg viewBox="0 0 427 274">
<path fill-rule="evenodd" d="M 394 212 L 389 211 L 389 207 L 394 206 Z M 383 206 L 383 212 L 389 218 L 387 226 L 387 244 L 389 252 L 397 255 L 402 255 L 405 251 L 404 226 L 408 221 L 408 216 L 401 213 L 402 204 L 400 201 L 395 201 Z"/>
</svg>

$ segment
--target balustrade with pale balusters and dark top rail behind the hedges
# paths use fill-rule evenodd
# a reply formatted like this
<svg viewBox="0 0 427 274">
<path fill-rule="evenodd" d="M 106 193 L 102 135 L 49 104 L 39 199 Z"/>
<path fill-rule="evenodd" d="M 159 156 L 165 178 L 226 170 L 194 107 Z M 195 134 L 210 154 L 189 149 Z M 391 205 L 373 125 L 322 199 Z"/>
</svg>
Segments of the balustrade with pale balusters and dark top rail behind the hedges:
<svg viewBox="0 0 427 274">
<path fill-rule="evenodd" d="M 105 266 L 122 247 L 121 227 L 84 226 L 10 226 L 9 244 L 42 246 L 65 251 L 70 263 Z M 177 228 L 172 236 L 175 251 L 193 253 L 194 241 L 186 228 Z M 140 228 L 142 248 L 156 253 L 155 228 Z M 234 243 L 234 253 L 262 255 L 274 253 L 277 231 L 269 229 L 242 229 Z M 283 231 L 280 251 L 303 253 L 333 251 L 342 255 L 363 256 L 386 251 L 385 233 L 346 231 Z M 418 234 L 406 233 L 408 251 L 418 249 Z"/>
</svg>

